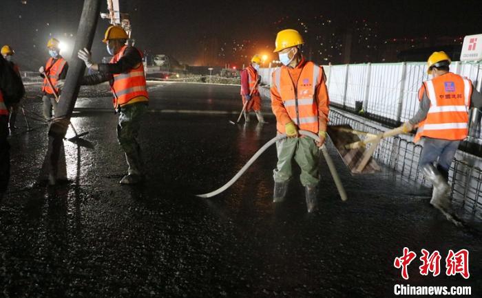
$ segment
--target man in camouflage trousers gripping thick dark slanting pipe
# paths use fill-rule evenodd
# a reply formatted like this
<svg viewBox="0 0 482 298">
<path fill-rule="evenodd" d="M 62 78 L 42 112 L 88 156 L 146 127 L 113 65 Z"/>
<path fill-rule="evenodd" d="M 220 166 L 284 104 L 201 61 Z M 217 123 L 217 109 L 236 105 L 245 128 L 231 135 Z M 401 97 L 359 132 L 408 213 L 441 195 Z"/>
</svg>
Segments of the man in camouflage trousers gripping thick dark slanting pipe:
<svg viewBox="0 0 482 298">
<path fill-rule="evenodd" d="M 121 179 L 121 184 L 135 184 L 144 179 L 143 160 L 137 136 L 140 120 L 143 119 L 149 103 L 141 52 L 125 45 L 127 33 L 121 27 L 110 26 L 105 31 L 104 43 L 112 57 L 110 63 L 92 62 L 87 49 L 78 51 L 88 69 L 98 71 L 83 78 L 82 84 L 92 85 L 110 82 L 114 95 L 114 108 L 119 114 L 117 138 L 125 152 L 129 169 Z M 63 86 L 63 81 L 60 83 Z"/>
</svg>

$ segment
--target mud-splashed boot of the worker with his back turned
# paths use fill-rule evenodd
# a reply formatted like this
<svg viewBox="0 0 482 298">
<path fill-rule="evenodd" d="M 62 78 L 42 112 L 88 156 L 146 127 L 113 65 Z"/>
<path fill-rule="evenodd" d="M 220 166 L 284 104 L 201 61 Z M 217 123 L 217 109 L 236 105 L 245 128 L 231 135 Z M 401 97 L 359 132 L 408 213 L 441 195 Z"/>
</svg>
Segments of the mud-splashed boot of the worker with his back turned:
<svg viewBox="0 0 482 298">
<path fill-rule="evenodd" d="M 450 187 L 446 179 L 444 179 L 440 172 L 431 164 L 423 167 L 423 174 L 425 174 L 427 180 L 430 181 L 434 187 L 430 204 L 438 209 L 442 209 L 442 211 L 451 213 L 452 206 L 448 198 Z"/>
</svg>

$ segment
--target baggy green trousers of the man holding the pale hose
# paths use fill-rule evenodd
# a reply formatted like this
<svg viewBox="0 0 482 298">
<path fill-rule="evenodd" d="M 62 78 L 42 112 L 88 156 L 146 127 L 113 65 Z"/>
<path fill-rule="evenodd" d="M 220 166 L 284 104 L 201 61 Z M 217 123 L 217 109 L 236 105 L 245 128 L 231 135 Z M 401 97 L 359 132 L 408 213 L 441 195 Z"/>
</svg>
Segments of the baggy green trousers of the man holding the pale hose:
<svg viewBox="0 0 482 298">
<path fill-rule="evenodd" d="M 303 186 L 317 185 L 319 181 L 319 149 L 308 137 L 286 138 L 276 143 L 277 165 L 273 170 L 275 182 L 291 179 L 293 159 L 302 170 L 300 181 Z"/>
</svg>

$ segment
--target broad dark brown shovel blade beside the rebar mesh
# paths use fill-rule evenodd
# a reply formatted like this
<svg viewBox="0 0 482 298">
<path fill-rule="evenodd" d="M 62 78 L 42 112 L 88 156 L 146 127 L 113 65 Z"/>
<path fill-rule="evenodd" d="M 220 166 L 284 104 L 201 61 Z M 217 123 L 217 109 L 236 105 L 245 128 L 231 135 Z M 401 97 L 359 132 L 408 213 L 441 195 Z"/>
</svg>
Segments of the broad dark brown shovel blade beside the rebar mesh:
<svg viewBox="0 0 482 298">
<path fill-rule="evenodd" d="M 330 139 L 333 141 L 333 144 L 335 145 L 335 148 L 337 148 L 337 151 L 342 157 L 344 163 L 348 169 L 350 169 L 350 172 L 352 174 L 373 174 L 375 172 L 379 172 L 381 168 L 373 157 L 370 157 L 368 163 L 364 165 L 362 170 L 359 169 L 359 165 L 362 163 L 365 152 L 368 149 L 364 147 L 346 149 L 346 145 L 356 141 L 361 141 L 358 135 L 355 133 L 350 133 L 350 131 L 354 130 L 348 124 L 328 126 L 328 135 L 330 135 Z M 371 146 L 376 146 L 376 144 L 372 144 Z"/>
</svg>

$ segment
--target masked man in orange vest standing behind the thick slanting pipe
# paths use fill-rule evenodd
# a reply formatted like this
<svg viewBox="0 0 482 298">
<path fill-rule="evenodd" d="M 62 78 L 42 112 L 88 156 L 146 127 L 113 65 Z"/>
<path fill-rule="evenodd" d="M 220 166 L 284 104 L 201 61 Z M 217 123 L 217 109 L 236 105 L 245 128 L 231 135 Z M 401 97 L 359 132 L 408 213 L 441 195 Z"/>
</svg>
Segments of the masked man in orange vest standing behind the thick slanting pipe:
<svg viewBox="0 0 482 298">
<path fill-rule="evenodd" d="M 60 54 L 60 41 L 55 38 L 50 38 L 47 43 L 50 58 L 47 60 L 45 67 L 40 67 L 39 73 L 43 78 L 43 117 L 45 119 L 52 118 L 52 108 L 56 114 L 57 104 L 55 95 L 59 96 L 61 89 L 56 86 L 59 80 L 64 80 L 67 76 L 69 64 Z M 46 76 L 45 76 L 46 75 Z M 54 87 L 52 89 L 51 87 Z"/>
</svg>

